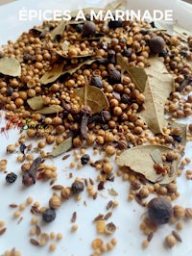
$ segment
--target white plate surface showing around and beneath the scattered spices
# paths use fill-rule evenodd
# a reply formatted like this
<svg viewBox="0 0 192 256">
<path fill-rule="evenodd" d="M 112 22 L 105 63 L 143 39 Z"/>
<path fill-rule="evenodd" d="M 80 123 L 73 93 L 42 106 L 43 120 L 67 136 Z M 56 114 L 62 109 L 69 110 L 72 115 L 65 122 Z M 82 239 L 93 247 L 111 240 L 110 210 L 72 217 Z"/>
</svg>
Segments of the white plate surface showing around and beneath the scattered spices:
<svg viewBox="0 0 192 256">
<path fill-rule="evenodd" d="M 108 1 L 100 1 L 100 7 L 106 5 Z M 97 6 L 98 3 L 93 3 L 92 6 Z M 27 10 L 46 10 L 46 9 L 77 9 L 78 7 L 90 6 L 87 2 L 81 2 L 77 0 L 70 1 L 15 1 L 12 4 L 0 7 L 0 43 L 6 43 L 8 39 L 16 39 L 23 31 L 27 31 L 33 25 L 41 23 L 41 20 L 33 20 L 23 22 L 18 20 L 18 13 L 22 8 Z M 192 122 L 191 119 L 188 120 Z M 2 119 L 0 127 L 4 127 L 5 122 Z M 16 209 L 9 207 L 10 204 L 22 204 L 25 203 L 28 196 L 32 196 L 34 201 L 40 203 L 41 206 L 48 206 L 48 200 L 53 191 L 50 189 L 48 182 L 36 182 L 35 186 L 30 188 L 24 188 L 21 184 L 21 172 L 20 165 L 16 162 L 18 152 L 14 152 L 12 155 L 6 154 L 6 147 L 8 144 L 15 143 L 18 139 L 19 131 L 15 128 L 12 131 L 8 131 L 5 135 L 0 134 L 0 159 L 8 160 L 8 171 L 13 171 L 18 174 L 16 182 L 12 185 L 6 184 L 5 173 L 0 171 L 0 220 L 5 221 L 7 230 L 0 236 L 0 255 L 6 250 L 15 247 L 19 250 L 23 256 L 34 255 L 47 255 L 49 251 L 49 244 L 39 247 L 30 243 L 30 229 L 32 225 L 30 223 L 33 215 L 30 212 L 30 206 L 26 207 L 21 212 L 22 220 L 18 223 L 19 218 L 12 218 L 12 215 Z M 185 156 L 191 158 L 191 142 L 187 143 Z M 92 155 L 92 159 L 95 161 L 101 158 L 100 154 L 92 154 L 92 149 L 86 151 Z M 70 152 L 71 157 L 67 160 L 61 160 L 61 158 L 50 161 L 50 165 L 58 166 L 59 178 L 57 184 L 63 186 L 70 186 L 76 177 L 92 178 L 96 180 L 97 171 L 91 166 L 84 166 L 82 169 L 71 168 L 70 163 L 74 161 L 73 152 Z M 111 160 L 112 161 L 112 160 Z M 48 161 L 47 161 L 48 163 Z M 192 168 L 191 165 L 187 168 Z M 116 166 L 114 166 L 116 170 Z M 69 173 L 73 173 L 73 177 L 69 178 Z M 173 205 L 180 204 L 183 207 L 192 207 L 192 184 L 185 179 L 183 175 L 178 179 L 178 186 L 180 191 L 180 197 L 177 201 L 173 202 Z M 97 190 L 97 183 L 94 185 Z M 117 196 L 112 196 L 108 193 L 108 190 L 113 188 L 118 192 Z M 105 255 L 132 255 L 132 256 L 188 256 L 192 255 L 192 243 L 191 243 L 191 229 L 192 221 L 183 222 L 183 230 L 180 231 L 182 243 L 177 243 L 172 249 L 166 249 L 163 245 L 163 238 L 170 234 L 175 229 L 174 225 L 162 225 L 156 232 L 153 241 L 149 247 L 145 250 L 141 248 L 141 243 L 145 237 L 139 230 L 139 223 L 143 217 L 145 209 L 138 205 L 135 201 L 128 201 L 129 183 L 122 181 L 121 177 L 115 177 L 114 182 L 108 182 L 105 185 L 105 190 L 98 192 L 96 200 L 87 196 L 87 192 L 82 193 L 82 199 L 76 201 L 71 198 L 64 202 L 61 208 L 57 211 L 57 218 L 49 224 L 43 224 L 41 218 L 39 218 L 39 224 L 42 232 L 55 232 L 62 233 L 63 239 L 57 243 L 57 249 L 50 255 L 53 256 L 89 256 L 92 253 L 91 242 L 96 237 L 101 237 L 105 243 L 110 241 L 112 237 L 116 238 L 117 245 Z M 108 219 L 108 222 L 115 223 L 117 230 L 113 236 L 100 236 L 96 233 L 96 227 L 93 223 L 93 218 L 99 214 L 107 214 L 107 204 L 109 200 L 117 200 L 119 206 L 112 210 L 112 216 Z M 110 210 L 109 210 L 110 211 Z M 74 212 L 77 212 L 76 223 L 78 230 L 71 232 L 71 217 Z M 55 240 L 52 241 L 55 243 Z"/>
</svg>

